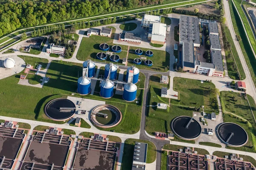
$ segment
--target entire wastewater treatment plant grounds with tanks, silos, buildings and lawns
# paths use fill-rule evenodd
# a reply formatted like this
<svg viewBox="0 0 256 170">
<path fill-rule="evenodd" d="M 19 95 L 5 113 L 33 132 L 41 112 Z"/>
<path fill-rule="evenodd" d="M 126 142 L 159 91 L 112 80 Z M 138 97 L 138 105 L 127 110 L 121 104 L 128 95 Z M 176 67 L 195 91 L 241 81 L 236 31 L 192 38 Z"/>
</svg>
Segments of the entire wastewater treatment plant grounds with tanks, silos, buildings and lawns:
<svg viewBox="0 0 256 170">
<path fill-rule="evenodd" d="M 4 48 L 0 169 L 255 170 L 256 91 L 229 77 L 223 23 L 168 10 Z"/>
</svg>

